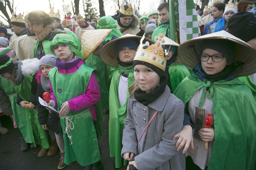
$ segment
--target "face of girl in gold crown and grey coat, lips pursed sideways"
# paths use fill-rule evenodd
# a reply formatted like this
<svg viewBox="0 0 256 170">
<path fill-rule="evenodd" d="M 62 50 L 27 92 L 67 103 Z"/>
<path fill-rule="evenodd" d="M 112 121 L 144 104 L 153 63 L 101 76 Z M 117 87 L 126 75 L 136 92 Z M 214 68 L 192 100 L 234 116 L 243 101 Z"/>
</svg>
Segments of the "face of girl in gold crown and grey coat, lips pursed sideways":
<svg viewBox="0 0 256 170">
<path fill-rule="evenodd" d="M 151 68 L 144 65 L 134 66 L 134 79 L 142 91 L 152 91 L 159 85 L 160 77 Z"/>
</svg>

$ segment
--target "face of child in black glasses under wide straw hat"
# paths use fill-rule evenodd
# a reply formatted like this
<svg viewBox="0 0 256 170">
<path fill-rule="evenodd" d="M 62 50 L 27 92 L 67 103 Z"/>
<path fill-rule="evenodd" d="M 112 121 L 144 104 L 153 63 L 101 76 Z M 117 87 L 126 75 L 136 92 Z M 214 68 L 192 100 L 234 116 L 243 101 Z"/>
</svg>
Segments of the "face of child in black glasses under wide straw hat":
<svg viewBox="0 0 256 170">
<path fill-rule="evenodd" d="M 222 53 L 219 53 L 216 50 L 207 48 L 203 50 L 202 54 L 218 55 Z M 202 64 L 203 71 L 208 75 L 217 74 L 221 72 L 226 67 L 226 65 L 228 65 L 226 57 L 224 57 L 221 62 L 214 62 L 212 58 L 209 57 L 208 61 L 201 61 L 201 64 Z"/>
</svg>

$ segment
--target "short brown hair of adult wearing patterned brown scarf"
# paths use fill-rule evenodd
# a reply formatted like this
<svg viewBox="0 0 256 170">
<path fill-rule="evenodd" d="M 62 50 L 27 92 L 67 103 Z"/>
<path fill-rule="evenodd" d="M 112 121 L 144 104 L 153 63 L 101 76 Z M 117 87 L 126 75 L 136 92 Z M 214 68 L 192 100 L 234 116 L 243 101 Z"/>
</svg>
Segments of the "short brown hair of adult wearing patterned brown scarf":
<svg viewBox="0 0 256 170">
<path fill-rule="evenodd" d="M 42 10 L 36 10 L 28 13 L 25 16 L 25 20 L 30 23 L 41 23 L 43 24 L 44 28 L 53 22 L 52 17 L 50 17 L 48 14 L 46 14 Z"/>
</svg>

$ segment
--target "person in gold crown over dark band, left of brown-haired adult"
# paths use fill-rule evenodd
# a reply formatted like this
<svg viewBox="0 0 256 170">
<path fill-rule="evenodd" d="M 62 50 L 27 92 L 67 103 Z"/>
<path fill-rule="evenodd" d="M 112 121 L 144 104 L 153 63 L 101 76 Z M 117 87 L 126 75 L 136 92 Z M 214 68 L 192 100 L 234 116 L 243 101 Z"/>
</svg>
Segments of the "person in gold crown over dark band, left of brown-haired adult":
<svg viewBox="0 0 256 170">
<path fill-rule="evenodd" d="M 27 34 L 25 19 L 22 18 L 22 15 L 20 13 L 17 16 L 17 18 L 14 16 L 14 13 L 12 14 L 11 26 L 11 29 L 15 34 L 10 37 L 10 44 L 12 43 L 13 40 L 17 39 L 18 37 Z"/>
</svg>

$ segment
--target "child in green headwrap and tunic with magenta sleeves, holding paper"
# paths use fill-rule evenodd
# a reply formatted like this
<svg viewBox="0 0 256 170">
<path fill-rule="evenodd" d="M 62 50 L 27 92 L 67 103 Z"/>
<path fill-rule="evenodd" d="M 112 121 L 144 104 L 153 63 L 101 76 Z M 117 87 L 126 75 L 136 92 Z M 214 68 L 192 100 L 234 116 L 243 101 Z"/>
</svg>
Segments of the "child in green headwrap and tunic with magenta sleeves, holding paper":
<svg viewBox="0 0 256 170">
<path fill-rule="evenodd" d="M 74 38 L 57 34 L 51 49 L 58 57 L 49 71 L 51 100 L 59 111 L 65 142 L 64 163 L 102 169 L 97 137 L 104 135 L 104 111 L 100 100 L 97 72 L 84 64 Z M 85 133 L 86 131 L 86 133 Z"/>
</svg>

